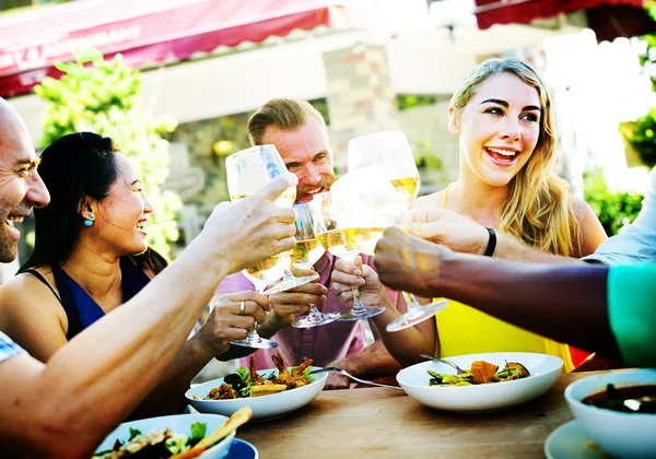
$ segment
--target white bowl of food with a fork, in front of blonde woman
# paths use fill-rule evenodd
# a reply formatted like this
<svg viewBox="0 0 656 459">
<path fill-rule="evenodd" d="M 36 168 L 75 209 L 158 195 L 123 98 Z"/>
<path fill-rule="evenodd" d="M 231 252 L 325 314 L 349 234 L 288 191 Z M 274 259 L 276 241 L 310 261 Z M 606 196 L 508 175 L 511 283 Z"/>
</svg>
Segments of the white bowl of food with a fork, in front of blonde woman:
<svg viewBox="0 0 656 459">
<path fill-rule="evenodd" d="M 555 382 L 563 361 L 528 352 L 469 354 L 448 360 L 466 373 L 434 361 L 402 369 L 401 388 L 414 400 L 447 411 L 480 412 L 513 407 L 547 392 Z"/>
</svg>

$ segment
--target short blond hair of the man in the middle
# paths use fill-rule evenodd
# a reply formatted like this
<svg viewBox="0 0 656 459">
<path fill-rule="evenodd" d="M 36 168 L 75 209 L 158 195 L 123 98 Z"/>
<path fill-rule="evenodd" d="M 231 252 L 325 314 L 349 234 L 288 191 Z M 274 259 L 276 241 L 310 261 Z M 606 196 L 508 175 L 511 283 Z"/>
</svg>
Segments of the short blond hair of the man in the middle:
<svg viewBox="0 0 656 459">
<path fill-rule="evenodd" d="M 328 133 L 324 117 L 308 102 L 297 98 L 272 98 L 248 119 L 248 139 L 253 145 L 261 145 L 267 127 L 276 126 L 292 131 L 305 125 L 309 116 L 314 116 Z"/>
</svg>

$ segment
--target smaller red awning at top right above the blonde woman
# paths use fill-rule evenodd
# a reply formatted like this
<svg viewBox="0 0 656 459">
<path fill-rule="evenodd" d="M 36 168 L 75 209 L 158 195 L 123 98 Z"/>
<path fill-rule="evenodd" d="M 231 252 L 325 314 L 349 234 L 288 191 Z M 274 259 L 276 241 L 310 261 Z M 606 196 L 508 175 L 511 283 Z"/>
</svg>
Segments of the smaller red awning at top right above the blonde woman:
<svg viewBox="0 0 656 459">
<path fill-rule="evenodd" d="M 561 13 L 604 4 L 643 8 L 643 0 L 476 0 L 476 17 L 481 30 L 494 24 L 529 23 Z"/>
</svg>

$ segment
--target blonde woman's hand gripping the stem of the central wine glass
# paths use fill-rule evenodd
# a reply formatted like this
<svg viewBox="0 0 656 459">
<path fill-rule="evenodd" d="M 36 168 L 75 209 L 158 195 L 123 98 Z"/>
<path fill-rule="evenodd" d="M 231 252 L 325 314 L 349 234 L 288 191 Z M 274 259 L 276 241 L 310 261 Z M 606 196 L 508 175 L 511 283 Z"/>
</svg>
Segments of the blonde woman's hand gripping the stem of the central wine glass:
<svg viewBox="0 0 656 459">
<path fill-rule="evenodd" d="M 378 274 L 372 267 L 362 264 L 360 257 L 355 257 L 354 263 L 343 258 L 338 259 L 331 275 L 332 292 L 335 292 L 339 305 L 344 308 L 353 307 L 353 289 L 359 289 L 360 301 L 365 306 L 388 303 Z"/>
</svg>

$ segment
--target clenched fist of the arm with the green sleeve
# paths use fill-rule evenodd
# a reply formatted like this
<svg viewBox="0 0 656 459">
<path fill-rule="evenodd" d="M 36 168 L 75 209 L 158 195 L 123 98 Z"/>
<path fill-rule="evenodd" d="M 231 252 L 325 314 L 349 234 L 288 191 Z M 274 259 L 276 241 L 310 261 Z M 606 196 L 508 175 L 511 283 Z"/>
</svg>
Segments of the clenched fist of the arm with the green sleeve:
<svg viewBox="0 0 656 459">
<path fill-rule="evenodd" d="M 410 236 L 389 227 L 376 245 L 376 270 L 391 289 L 436 296 L 444 260 L 453 252 L 437 244 Z"/>
</svg>

